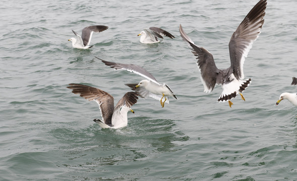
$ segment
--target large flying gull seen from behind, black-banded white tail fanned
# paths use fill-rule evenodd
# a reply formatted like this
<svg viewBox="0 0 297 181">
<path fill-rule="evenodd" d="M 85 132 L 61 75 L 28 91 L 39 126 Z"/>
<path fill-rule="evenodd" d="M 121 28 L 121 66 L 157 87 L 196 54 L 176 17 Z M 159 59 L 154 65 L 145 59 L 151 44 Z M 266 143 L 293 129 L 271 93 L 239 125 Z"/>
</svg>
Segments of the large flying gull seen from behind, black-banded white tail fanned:
<svg viewBox="0 0 297 181">
<path fill-rule="evenodd" d="M 221 84 L 223 92 L 218 102 L 228 101 L 229 106 L 233 104 L 230 99 L 241 94 L 251 83 L 251 78 L 244 78 L 244 61 L 247 57 L 253 42 L 258 38 L 264 23 L 266 0 L 260 0 L 245 17 L 233 33 L 229 42 L 229 53 L 231 65 L 226 69 L 218 69 L 215 65 L 212 54 L 203 47 L 199 47 L 189 38 L 180 25 L 180 32 L 183 39 L 191 47 L 192 53 L 197 56 L 197 64 L 201 71 L 201 80 L 204 85 L 204 92 L 212 92 L 216 84 Z"/>
</svg>

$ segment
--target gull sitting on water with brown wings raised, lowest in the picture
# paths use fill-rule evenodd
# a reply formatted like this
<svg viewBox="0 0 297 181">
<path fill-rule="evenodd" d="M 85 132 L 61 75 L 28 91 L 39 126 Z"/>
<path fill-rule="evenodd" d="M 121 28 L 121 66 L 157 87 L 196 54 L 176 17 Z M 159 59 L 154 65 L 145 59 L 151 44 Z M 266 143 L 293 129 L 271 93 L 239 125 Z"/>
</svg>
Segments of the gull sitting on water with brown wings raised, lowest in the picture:
<svg viewBox="0 0 297 181">
<path fill-rule="evenodd" d="M 99 88 L 77 83 L 70 83 L 69 85 L 70 86 L 67 88 L 72 89 L 72 93 L 79 94 L 86 100 L 95 101 L 98 103 L 102 121 L 99 119 L 94 119 L 93 121 L 96 122 L 101 128 L 117 129 L 127 126 L 127 113 L 128 111 L 134 113 L 134 111 L 131 109 L 131 106 L 137 103 L 137 93 L 126 93 L 114 107 L 113 97 Z"/>
</svg>

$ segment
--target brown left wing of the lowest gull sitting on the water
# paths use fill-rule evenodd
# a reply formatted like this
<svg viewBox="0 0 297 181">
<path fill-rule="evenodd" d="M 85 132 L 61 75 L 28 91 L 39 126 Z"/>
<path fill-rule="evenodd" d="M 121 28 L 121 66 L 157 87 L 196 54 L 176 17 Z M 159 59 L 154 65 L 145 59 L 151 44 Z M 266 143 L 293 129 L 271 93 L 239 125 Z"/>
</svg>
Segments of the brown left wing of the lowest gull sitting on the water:
<svg viewBox="0 0 297 181">
<path fill-rule="evenodd" d="M 111 124 L 112 113 L 114 110 L 113 97 L 111 95 L 99 88 L 78 83 L 70 83 L 67 88 L 72 89 L 72 93 L 78 94 L 86 100 L 97 102 L 101 112 L 102 121 L 107 125 Z"/>
</svg>

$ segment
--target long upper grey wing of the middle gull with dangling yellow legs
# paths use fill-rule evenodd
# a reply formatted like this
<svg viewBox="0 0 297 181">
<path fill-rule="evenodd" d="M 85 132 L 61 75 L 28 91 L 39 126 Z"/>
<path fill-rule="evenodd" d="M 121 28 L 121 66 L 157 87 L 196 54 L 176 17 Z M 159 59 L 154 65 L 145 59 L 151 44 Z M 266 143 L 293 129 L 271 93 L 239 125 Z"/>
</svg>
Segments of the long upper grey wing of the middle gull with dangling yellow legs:
<svg viewBox="0 0 297 181">
<path fill-rule="evenodd" d="M 96 57 L 98 58 L 98 57 Z M 138 65 L 134 65 L 134 64 L 124 64 L 124 63 L 114 63 L 114 62 L 109 62 L 109 61 L 105 61 L 105 60 L 102 60 L 100 58 L 98 58 L 99 60 L 101 60 L 103 63 L 105 63 L 105 65 L 107 66 L 110 66 L 111 68 L 114 68 L 114 69 L 124 69 L 124 70 L 127 70 L 127 71 L 130 71 L 130 72 L 133 72 L 133 73 L 136 73 L 140 76 L 143 76 L 145 77 L 146 79 L 158 84 L 158 85 L 161 85 L 157 80 L 156 78 L 150 73 L 148 72 L 146 69 L 138 66 Z"/>
</svg>

